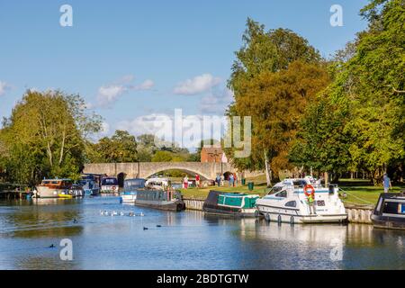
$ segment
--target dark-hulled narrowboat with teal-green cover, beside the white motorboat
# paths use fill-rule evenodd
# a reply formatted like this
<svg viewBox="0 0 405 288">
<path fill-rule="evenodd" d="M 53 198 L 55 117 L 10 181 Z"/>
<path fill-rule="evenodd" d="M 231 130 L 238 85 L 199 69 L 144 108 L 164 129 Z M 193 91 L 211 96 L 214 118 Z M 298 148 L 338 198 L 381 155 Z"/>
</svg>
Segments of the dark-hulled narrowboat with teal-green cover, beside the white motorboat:
<svg viewBox="0 0 405 288">
<path fill-rule="evenodd" d="M 202 205 L 202 211 L 206 214 L 255 217 L 256 201 L 259 198 L 259 195 L 254 194 L 223 193 L 211 190 Z"/>
</svg>

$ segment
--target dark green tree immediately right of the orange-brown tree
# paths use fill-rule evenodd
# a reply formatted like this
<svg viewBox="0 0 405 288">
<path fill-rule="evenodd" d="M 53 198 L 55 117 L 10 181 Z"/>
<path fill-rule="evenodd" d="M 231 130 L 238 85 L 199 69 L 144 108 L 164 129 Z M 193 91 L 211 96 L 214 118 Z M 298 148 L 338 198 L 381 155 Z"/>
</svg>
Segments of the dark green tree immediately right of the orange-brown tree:
<svg viewBox="0 0 405 288">
<path fill-rule="evenodd" d="M 351 166 L 350 134 L 345 130 L 349 109 L 347 105 L 330 103 L 327 91 L 308 106 L 297 137 L 288 155 L 295 166 L 306 171 L 329 171 L 334 175 L 347 172 Z"/>
</svg>

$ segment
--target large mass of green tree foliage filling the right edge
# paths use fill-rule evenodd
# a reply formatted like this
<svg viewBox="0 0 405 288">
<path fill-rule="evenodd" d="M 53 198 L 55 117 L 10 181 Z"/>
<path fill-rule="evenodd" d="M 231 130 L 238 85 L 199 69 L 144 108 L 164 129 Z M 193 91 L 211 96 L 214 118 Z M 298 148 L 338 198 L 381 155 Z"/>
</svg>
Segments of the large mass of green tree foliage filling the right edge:
<svg viewBox="0 0 405 288">
<path fill-rule="evenodd" d="M 312 107 L 314 112 L 324 107 L 330 111 L 318 119 L 307 114 L 292 159 L 302 165 L 318 159 L 321 168 L 335 171 L 363 170 L 377 183 L 390 167 L 403 171 L 405 3 L 374 0 L 361 14 L 369 22 L 368 29 L 338 54 L 349 57 L 336 58 L 334 81 L 322 101 Z M 331 129 L 334 123 L 338 126 Z M 315 125 L 329 128 L 324 139 L 308 130 Z"/>
</svg>

